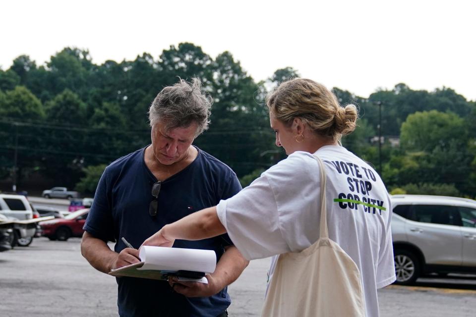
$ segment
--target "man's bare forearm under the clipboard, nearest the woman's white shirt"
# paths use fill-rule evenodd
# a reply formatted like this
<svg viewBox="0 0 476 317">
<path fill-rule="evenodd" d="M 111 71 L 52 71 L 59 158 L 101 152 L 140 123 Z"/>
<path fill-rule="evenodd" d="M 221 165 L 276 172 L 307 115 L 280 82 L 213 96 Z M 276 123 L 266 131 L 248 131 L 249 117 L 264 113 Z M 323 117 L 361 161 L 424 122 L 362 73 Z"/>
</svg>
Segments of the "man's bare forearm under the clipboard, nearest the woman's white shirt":
<svg viewBox="0 0 476 317">
<path fill-rule="evenodd" d="M 213 272 L 213 277 L 219 285 L 218 291 L 233 283 L 248 263 L 235 246 L 228 247 Z"/>
</svg>

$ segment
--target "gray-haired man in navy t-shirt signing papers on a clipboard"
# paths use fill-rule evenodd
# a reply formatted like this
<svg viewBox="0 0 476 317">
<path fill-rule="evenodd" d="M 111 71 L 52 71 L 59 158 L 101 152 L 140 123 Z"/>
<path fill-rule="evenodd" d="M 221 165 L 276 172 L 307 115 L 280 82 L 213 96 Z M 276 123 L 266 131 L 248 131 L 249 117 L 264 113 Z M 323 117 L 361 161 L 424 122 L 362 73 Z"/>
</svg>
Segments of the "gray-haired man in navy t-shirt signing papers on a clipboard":
<svg viewBox="0 0 476 317">
<path fill-rule="evenodd" d="M 108 273 L 139 262 L 134 248 L 164 225 L 241 189 L 230 167 L 192 145 L 208 127 L 212 104 L 200 87 L 195 78 L 164 88 L 149 109 L 152 144 L 106 167 L 81 241 L 82 255 L 96 269 Z M 114 251 L 107 241 L 116 242 Z M 227 285 L 248 264 L 228 235 L 174 247 L 215 251 L 218 263 L 208 284 L 118 277 L 119 316 L 228 316 Z"/>
</svg>

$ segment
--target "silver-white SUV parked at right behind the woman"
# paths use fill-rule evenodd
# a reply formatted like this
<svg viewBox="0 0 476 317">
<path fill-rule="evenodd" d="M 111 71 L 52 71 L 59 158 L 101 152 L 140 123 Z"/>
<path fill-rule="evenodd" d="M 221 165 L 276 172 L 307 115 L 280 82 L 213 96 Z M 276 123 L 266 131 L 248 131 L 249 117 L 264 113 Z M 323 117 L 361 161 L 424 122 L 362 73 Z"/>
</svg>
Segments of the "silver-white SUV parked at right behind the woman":
<svg viewBox="0 0 476 317">
<path fill-rule="evenodd" d="M 426 273 L 476 273 L 476 201 L 425 195 L 391 196 L 398 284 Z"/>
</svg>

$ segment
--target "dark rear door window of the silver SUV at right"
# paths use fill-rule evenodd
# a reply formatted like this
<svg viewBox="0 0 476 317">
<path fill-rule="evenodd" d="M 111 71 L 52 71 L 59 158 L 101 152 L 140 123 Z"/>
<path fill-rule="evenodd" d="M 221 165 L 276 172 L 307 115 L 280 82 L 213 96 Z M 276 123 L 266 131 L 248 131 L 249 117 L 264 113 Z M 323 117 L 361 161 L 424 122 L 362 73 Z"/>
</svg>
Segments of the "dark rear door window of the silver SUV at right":
<svg viewBox="0 0 476 317">
<path fill-rule="evenodd" d="M 419 222 L 461 225 L 458 207 L 444 205 L 412 205 L 411 219 Z"/>
</svg>

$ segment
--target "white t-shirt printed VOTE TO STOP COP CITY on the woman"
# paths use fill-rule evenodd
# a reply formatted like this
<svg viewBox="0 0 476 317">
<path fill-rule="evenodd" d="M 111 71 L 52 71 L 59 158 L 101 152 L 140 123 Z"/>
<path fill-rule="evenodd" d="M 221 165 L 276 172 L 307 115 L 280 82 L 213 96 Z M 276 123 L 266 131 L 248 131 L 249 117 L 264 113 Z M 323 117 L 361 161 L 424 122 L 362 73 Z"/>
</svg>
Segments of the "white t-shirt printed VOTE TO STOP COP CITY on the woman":
<svg viewBox="0 0 476 317">
<path fill-rule="evenodd" d="M 341 146 L 324 146 L 315 155 L 326 166 L 329 238 L 357 264 L 367 316 L 376 317 L 377 288 L 395 281 L 387 190 L 372 167 Z M 217 213 L 248 260 L 299 252 L 319 238 L 319 192 L 316 159 L 295 152 L 220 201 Z"/>
</svg>

